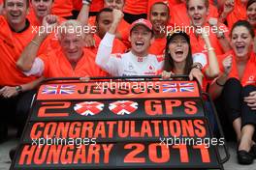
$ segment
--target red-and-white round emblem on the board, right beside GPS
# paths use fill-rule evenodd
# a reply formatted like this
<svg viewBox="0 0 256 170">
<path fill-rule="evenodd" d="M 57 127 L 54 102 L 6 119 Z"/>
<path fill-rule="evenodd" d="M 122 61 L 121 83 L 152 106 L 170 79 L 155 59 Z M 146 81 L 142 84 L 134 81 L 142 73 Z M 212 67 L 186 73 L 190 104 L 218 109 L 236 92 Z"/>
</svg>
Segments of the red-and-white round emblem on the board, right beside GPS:
<svg viewBox="0 0 256 170">
<path fill-rule="evenodd" d="M 129 115 L 138 109 L 138 102 L 131 100 L 119 100 L 110 103 L 109 109 L 116 115 Z"/>
</svg>

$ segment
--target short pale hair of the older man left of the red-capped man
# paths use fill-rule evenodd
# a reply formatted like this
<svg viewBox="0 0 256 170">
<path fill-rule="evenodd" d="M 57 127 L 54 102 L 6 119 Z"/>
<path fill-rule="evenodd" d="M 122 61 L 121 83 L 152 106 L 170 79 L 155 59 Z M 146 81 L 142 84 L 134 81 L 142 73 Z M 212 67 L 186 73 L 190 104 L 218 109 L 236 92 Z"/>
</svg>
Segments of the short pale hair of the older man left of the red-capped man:
<svg viewBox="0 0 256 170">
<path fill-rule="evenodd" d="M 66 20 L 62 22 L 58 26 L 58 40 L 60 41 L 63 37 L 63 35 L 68 34 L 68 33 L 74 33 L 77 34 L 78 36 L 81 36 L 81 38 L 84 38 L 84 33 L 83 33 L 83 26 L 80 23 L 80 21 L 71 19 L 71 20 Z"/>
</svg>

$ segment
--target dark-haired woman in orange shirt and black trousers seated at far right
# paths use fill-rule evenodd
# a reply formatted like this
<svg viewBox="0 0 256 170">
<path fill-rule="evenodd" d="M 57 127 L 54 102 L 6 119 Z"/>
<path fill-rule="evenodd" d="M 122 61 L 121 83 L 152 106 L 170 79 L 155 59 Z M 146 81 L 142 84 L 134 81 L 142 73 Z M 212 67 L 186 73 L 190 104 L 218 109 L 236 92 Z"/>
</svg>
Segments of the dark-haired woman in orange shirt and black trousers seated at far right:
<svg viewBox="0 0 256 170">
<path fill-rule="evenodd" d="M 256 125 L 256 60 L 252 51 L 254 31 L 246 20 L 236 22 L 231 30 L 232 50 L 219 56 L 220 75 L 211 84 L 209 93 L 219 98 L 223 111 L 237 134 L 238 160 L 250 164 L 256 146 L 253 134 Z"/>
</svg>

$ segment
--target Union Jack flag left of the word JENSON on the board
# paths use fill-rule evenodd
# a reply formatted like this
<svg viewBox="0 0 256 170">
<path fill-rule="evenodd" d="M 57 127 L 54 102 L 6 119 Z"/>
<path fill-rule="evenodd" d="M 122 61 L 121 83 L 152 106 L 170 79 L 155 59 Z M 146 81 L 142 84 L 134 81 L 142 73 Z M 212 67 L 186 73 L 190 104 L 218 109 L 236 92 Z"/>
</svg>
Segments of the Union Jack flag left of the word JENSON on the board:
<svg viewBox="0 0 256 170">
<path fill-rule="evenodd" d="M 45 95 L 71 95 L 75 93 L 75 85 L 46 85 L 42 91 Z"/>
</svg>

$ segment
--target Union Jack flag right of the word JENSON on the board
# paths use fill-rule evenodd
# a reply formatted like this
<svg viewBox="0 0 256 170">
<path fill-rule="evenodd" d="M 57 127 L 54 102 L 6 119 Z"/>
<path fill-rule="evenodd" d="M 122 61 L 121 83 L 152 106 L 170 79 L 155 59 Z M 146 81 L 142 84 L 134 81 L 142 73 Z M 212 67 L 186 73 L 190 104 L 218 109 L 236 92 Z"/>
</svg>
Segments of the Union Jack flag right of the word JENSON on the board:
<svg viewBox="0 0 256 170">
<path fill-rule="evenodd" d="M 194 83 L 163 84 L 163 93 L 194 92 Z"/>
</svg>

